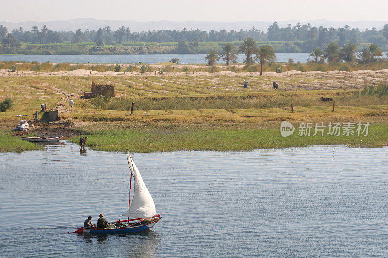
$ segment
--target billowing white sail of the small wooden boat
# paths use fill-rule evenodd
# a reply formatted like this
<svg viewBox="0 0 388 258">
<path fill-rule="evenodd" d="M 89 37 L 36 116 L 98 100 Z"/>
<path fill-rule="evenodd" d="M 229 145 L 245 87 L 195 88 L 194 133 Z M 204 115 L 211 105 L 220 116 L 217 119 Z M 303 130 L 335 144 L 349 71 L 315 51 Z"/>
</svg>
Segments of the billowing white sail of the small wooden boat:
<svg viewBox="0 0 388 258">
<path fill-rule="evenodd" d="M 139 173 L 135 163 L 131 159 L 128 151 L 127 158 L 129 161 L 129 168 L 132 170 L 134 178 L 134 193 L 133 199 L 130 203 L 128 212 L 122 217 L 130 218 L 150 218 L 156 215 L 154 200 L 151 197 L 146 185 L 143 182 L 142 176 Z"/>
</svg>

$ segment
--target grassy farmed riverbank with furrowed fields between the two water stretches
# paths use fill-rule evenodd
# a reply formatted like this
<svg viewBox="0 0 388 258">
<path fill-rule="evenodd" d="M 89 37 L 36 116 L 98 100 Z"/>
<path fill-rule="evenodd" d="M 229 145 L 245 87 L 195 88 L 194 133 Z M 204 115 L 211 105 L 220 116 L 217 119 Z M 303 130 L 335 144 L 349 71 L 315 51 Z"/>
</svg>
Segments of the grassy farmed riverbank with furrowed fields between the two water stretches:
<svg viewBox="0 0 388 258">
<path fill-rule="evenodd" d="M 76 71 L 78 73 L 78 71 Z M 107 73 L 107 72 L 104 72 Z M 11 135 L 20 120 L 45 103 L 59 106 L 60 120 L 40 121 L 33 135 L 65 135 L 71 142 L 86 136 L 86 146 L 104 151 L 170 152 L 178 150 L 236 151 L 259 148 L 347 145 L 380 147 L 388 144 L 388 71 L 266 72 L 223 74 L 128 75 L 111 72 L 96 76 L 33 72 L 25 76 L 0 75 L 0 98 L 13 106 L 0 115 L 1 151 L 40 148 Z M 114 84 L 116 97 L 81 99 L 91 80 Z M 242 81 L 249 88 L 242 88 Z M 272 89 L 272 81 L 279 89 Z M 333 102 L 323 102 L 321 97 Z M 72 98 L 76 105 L 70 111 Z M 134 102 L 133 115 L 130 115 Z M 65 105 L 65 106 L 62 106 Z M 292 108 L 294 112 L 292 112 Z M 24 117 L 23 117 L 24 118 Z M 294 134 L 283 137 L 282 121 Z M 342 135 L 347 123 L 353 134 Z M 300 125 L 311 123 L 310 135 L 299 135 Z M 315 125 L 325 126 L 324 135 Z M 339 135 L 329 124 L 339 123 Z M 370 124 L 359 134 L 357 124 Z"/>
</svg>

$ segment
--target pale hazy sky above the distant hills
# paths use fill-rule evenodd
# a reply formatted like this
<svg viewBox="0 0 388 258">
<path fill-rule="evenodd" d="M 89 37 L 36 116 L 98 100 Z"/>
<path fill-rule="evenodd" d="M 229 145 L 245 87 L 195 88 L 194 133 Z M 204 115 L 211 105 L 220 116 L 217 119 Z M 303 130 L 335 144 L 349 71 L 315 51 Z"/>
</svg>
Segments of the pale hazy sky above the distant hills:
<svg viewBox="0 0 388 258">
<path fill-rule="evenodd" d="M 0 21 L 388 20 L 388 0 L 0 0 Z"/>
</svg>

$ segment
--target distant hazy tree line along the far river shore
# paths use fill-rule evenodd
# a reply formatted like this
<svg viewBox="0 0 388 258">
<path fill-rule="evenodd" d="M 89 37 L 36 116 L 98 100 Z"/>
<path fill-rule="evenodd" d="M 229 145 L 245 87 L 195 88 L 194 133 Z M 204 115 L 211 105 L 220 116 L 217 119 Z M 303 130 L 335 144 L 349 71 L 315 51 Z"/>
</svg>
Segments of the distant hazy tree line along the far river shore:
<svg viewBox="0 0 388 258">
<path fill-rule="evenodd" d="M 293 42 L 296 46 L 306 46 L 309 49 L 323 47 L 332 41 L 337 41 L 339 46 L 351 42 L 358 44 L 361 42 L 376 43 L 378 45 L 388 42 L 388 24 L 381 30 L 375 27 L 360 31 L 359 28 L 350 28 L 345 25 L 339 28 L 326 28 L 323 26 L 311 26 L 297 23 L 294 26 L 288 24 L 286 27 L 279 27 L 277 22 L 273 22 L 267 31 L 255 29 L 251 30 L 152 30 L 142 32 L 131 32 L 129 27 L 120 27 L 112 30 L 109 26 L 98 30 L 86 29 L 82 31 L 53 31 L 44 25 L 42 28 L 33 26 L 31 30 L 24 30 L 22 27 L 8 31 L 0 25 L 0 41 L 4 47 L 18 47 L 19 42 L 30 43 L 81 43 L 99 42 L 101 45 L 112 45 L 113 42 L 192 42 L 194 46 L 203 41 L 231 42 L 242 41 L 244 38 L 253 38 L 256 41 L 283 41 Z"/>
</svg>

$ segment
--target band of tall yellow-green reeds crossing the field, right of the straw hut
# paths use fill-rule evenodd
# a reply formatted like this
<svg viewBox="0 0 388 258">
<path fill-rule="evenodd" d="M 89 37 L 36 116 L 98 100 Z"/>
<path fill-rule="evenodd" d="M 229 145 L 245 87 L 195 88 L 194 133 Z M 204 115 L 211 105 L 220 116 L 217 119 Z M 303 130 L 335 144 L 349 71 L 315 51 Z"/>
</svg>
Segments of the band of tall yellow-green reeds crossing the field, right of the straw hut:
<svg viewBox="0 0 388 258">
<path fill-rule="evenodd" d="M 374 95 L 357 95 L 356 92 L 348 92 L 345 95 L 334 96 L 337 105 L 359 106 L 359 105 L 388 105 L 387 97 Z M 191 98 L 191 97 L 169 97 L 169 98 L 94 98 L 89 101 L 89 106 L 94 109 L 123 110 L 128 111 L 131 103 L 136 103 L 135 110 L 188 110 L 188 109 L 265 109 L 282 108 L 294 106 L 328 106 L 330 103 L 322 102 L 319 96 L 272 96 L 272 97 L 223 97 L 216 98 Z"/>
</svg>

